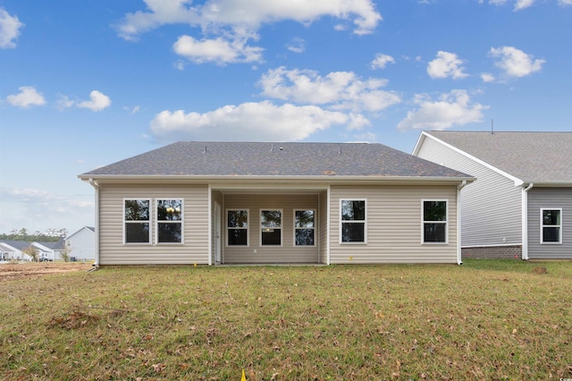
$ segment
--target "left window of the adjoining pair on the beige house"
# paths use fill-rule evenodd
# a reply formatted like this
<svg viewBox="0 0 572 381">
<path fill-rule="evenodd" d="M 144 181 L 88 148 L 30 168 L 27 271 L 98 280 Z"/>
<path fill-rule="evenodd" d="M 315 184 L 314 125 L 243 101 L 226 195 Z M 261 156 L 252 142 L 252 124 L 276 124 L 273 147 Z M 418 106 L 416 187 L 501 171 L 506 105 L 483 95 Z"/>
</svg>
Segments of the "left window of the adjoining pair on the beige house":
<svg viewBox="0 0 572 381">
<path fill-rule="evenodd" d="M 123 202 L 123 241 L 151 242 L 151 200 L 125 199 Z"/>
</svg>

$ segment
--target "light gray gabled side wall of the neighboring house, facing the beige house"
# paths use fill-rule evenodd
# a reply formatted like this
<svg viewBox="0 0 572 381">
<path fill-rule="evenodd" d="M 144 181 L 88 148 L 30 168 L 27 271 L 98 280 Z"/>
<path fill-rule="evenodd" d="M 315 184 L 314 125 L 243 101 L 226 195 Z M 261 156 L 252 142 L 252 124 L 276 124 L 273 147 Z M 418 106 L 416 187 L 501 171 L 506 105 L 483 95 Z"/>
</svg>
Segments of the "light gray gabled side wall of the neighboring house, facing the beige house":
<svg viewBox="0 0 572 381">
<path fill-rule="evenodd" d="M 417 157 L 476 177 L 461 190 L 463 248 L 522 245 L 522 194 L 513 180 L 429 137 Z"/>
</svg>

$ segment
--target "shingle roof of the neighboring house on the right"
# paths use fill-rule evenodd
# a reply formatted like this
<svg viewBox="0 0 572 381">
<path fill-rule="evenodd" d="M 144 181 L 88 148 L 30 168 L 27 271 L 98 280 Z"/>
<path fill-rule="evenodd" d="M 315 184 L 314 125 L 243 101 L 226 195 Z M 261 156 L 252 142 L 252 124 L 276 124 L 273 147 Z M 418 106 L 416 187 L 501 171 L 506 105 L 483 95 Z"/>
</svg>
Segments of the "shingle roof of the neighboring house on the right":
<svg viewBox="0 0 572 381">
<path fill-rule="evenodd" d="M 426 136 L 522 182 L 572 185 L 572 132 L 424 131 L 414 155 Z"/>
</svg>

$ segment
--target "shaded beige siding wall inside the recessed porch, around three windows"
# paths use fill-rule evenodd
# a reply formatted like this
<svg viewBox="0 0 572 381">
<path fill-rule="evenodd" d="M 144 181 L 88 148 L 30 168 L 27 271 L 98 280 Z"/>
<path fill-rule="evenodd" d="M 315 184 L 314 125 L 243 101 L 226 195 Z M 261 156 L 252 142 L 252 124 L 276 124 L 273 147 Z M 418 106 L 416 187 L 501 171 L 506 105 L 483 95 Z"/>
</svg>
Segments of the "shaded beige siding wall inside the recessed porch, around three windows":
<svg viewBox="0 0 572 381">
<path fill-rule="evenodd" d="M 318 210 L 317 194 L 225 194 L 223 208 L 224 263 L 317 263 L 320 222 L 313 247 L 294 246 L 293 224 L 294 209 Z M 226 246 L 227 209 L 248 209 L 248 247 Z M 260 209 L 282 209 L 282 247 L 260 246 Z"/>
</svg>

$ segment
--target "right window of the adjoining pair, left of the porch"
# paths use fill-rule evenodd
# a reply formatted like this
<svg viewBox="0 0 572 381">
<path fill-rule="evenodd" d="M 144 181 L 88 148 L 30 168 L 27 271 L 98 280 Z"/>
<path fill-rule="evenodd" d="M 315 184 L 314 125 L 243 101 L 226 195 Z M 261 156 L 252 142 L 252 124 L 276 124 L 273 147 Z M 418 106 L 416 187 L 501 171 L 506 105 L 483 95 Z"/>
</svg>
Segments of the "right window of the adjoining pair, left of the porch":
<svg viewBox="0 0 572 381">
<path fill-rule="evenodd" d="M 157 199 L 157 243 L 182 243 L 182 200 Z"/>
</svg>

